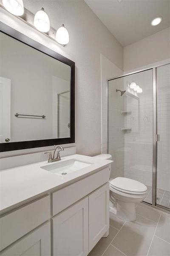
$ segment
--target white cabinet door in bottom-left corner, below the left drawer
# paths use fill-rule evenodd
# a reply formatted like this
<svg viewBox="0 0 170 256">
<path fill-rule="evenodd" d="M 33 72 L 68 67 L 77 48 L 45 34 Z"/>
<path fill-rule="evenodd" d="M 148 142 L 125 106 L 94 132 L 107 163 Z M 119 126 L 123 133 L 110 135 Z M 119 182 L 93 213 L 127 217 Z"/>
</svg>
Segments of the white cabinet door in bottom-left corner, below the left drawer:
<svg viewBox="0 0 170 256">
<path fill-rule="evenodd" d="M 0 256 L 51 256 L 50 222 L 5 249 Z"/>
</svg>

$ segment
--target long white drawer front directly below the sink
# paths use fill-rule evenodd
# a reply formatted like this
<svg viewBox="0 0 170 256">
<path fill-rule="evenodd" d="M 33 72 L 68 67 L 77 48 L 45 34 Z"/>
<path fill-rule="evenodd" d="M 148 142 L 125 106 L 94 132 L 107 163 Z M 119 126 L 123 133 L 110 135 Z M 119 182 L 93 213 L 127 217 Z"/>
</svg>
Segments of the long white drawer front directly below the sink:
<svg viewBox="0 0 170 256">
<path fill-rule="evenodd" d="M 52 194 L 53 216 L 90 194 L 109 180 L 109 167 Z"/>
</svg>

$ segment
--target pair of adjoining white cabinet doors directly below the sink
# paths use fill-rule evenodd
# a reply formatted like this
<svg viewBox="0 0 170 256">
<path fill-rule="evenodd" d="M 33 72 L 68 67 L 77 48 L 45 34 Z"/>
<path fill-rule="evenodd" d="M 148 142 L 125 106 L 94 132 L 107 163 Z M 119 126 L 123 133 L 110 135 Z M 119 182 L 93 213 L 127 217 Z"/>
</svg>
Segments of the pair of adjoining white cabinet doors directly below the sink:
<svg viewBox="0 0 170 256">
<path fill-rule="evenodd" d="M 52 218 L 53 255 L 87 256 L 109 229 L 109 183 Z"/>
</svg>

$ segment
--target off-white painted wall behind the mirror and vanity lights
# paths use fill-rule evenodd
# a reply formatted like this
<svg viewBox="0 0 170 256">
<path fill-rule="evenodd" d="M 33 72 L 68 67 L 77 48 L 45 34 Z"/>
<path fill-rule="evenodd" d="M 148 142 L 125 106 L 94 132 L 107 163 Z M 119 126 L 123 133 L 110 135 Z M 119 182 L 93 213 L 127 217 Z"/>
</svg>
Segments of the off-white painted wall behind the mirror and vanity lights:
<svg viewBox="0 0 170 256">
<path fill-rule="evenodd" d="M 77 153 L 101 153 L 100 54 L 122 69 L 122 46 L 82 0 L 24 0 L 24 4 L 33 13 L 43 6 L 56 29 L 64 23 L 70 35 L 69 44 L 59 46 L 6 11 L 1 13 L 0 20 L 75 61 Z"/>
</svg>

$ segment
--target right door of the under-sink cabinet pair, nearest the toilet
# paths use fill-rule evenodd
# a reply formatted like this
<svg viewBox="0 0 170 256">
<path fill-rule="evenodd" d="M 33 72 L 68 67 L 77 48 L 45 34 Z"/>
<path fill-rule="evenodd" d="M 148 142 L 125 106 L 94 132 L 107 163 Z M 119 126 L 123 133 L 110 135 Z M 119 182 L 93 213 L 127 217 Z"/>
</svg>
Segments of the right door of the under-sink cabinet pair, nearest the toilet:
<svg viewBox="0 0 170 256">
<path fill-rule="evenodd" d="M 109 183 L 89 195 L 89 252 L 109 229 Z"/>
</svg>

